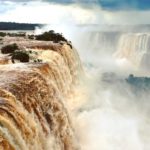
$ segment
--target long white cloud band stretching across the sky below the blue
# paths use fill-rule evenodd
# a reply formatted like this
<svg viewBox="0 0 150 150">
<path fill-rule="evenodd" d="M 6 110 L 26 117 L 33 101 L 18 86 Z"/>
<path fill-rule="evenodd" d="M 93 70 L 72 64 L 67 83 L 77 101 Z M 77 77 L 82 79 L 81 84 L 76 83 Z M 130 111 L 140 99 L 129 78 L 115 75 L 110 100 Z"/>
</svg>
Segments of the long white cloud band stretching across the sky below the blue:
<svg viewBox="0 0 150 150">
<path fill-rule="evenodd" d="M 40 1 L 9 4 L 0 21 L 46 24 L 149 24 L 150 11 L 106 11 L 100 6 L 60 5 Z M 0 6 L 2 8 L 2 5 Z"/>
</svg>

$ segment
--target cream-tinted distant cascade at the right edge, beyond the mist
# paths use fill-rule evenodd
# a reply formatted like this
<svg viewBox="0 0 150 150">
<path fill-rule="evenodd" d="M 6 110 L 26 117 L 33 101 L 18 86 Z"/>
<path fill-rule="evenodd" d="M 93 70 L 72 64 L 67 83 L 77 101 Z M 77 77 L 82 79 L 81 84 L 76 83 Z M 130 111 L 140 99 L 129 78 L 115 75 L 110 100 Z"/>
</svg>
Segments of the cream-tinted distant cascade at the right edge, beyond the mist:
<svg viewBox="0 0 150 150">
<path fill-rule="evenodd" d="M 137 66 L 145 66 L 150 63 L 150 34 L 148 33 L 125 33 L 118 41 L 115 56 L 126 58 Z"/>
</svg>

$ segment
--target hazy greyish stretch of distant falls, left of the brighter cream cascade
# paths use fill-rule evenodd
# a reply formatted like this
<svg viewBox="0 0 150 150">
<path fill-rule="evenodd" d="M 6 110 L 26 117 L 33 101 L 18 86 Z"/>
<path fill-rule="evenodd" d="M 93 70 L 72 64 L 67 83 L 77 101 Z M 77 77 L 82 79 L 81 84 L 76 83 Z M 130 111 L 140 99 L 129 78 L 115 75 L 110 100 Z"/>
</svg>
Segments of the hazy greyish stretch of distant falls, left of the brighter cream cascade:
<svg viewBox="0 0 150 150">
<path fill-rule="evenodd" d="M 79 48 L 92 50 L 94 53 L 112 53 L 116 50 L 119 38 L 120 32 L 85 31 L 79 35 L 76 45 L 80 44 Z"/>
</svg>

